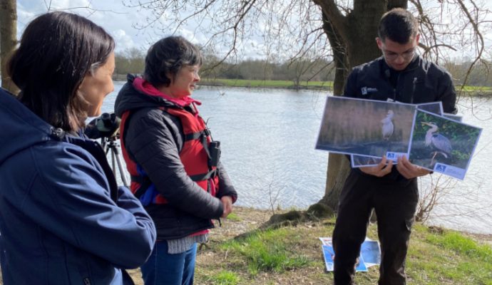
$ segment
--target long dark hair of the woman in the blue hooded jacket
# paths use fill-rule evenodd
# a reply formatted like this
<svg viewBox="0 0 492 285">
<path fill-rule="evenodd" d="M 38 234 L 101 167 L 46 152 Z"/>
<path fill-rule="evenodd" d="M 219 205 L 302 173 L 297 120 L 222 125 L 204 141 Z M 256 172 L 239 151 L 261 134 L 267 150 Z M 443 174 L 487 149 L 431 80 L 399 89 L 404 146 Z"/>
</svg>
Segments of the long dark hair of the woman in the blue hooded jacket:
<svg viewBox="0 0 492 285">
<path fill-rule="evenodd" d="M 26 26 L 7 69 L 24 105 L 53 127 L 78 130 L 88 105 L 78 87 L 114 47 L 113 38 L 92 21 L 56 11 Z"/>
</svg>

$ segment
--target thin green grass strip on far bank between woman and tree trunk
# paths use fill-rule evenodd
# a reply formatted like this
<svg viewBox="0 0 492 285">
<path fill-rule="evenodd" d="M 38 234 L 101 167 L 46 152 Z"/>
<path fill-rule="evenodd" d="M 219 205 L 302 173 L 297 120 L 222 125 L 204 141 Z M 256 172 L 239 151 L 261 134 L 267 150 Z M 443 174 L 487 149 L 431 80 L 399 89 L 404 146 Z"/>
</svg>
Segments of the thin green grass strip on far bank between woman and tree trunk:
<svg viewBox="0 0 492 285">
<path fill-rule="evenodd" d="M 261 80 L 243 80 L 243 79 L 220 79 L 220 78 L 202 78 L 200 81 L 203 85 L 227 86 L 227 87 L 262 87 L 262 88 L 295 88 L 293 81 L 261 81 Z M 300 88 L 330 90 L 333 87 L 332 81 L 302 81 L 299 83 Z"/>
</svg>

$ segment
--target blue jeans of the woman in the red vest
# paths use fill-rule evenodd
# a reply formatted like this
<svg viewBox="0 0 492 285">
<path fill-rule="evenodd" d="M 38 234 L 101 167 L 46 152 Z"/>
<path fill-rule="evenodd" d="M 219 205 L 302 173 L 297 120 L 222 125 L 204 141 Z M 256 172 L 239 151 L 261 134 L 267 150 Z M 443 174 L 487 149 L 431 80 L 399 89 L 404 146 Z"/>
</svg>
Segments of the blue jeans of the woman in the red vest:
<svg viewBox="0 0 492 285">
<path fill-rule="evenodd" d="M 145 285 L 193 285 L 197 244 L 180 254 L 168 254 L 168 242 L 156 242 L 140 269 Z"/>
</svg>

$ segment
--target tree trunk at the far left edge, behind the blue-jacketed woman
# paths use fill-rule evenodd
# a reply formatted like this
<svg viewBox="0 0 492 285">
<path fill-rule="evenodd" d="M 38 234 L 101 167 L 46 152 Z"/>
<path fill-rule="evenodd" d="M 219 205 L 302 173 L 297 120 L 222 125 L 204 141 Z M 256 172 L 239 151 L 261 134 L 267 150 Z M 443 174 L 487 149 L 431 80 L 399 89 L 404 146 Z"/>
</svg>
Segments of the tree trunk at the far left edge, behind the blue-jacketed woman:
<svg viewBox="0 0 492 285">
<path fill-rule="evenodd" d="M 19 89 L 6 72 L 6 61 L 16 48 L 17 37 L 17 3 L 15 0 L 0 0 L 0 65 L 1 87 L 11 93 Z"/>
</svg>

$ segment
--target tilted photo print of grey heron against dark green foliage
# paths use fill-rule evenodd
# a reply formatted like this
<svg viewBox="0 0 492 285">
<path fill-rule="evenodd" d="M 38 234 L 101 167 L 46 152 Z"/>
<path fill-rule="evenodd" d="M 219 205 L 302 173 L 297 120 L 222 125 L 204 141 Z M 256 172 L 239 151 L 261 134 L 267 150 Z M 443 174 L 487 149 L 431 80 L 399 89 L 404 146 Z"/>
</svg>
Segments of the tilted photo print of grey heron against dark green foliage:
<svg viewBox="0 0 492 285">
<path fill-rule="evenodd" d="M 463 180 L 481 131 L 417 110 L 409 160 L 414 165 Z"/>
</svg>

